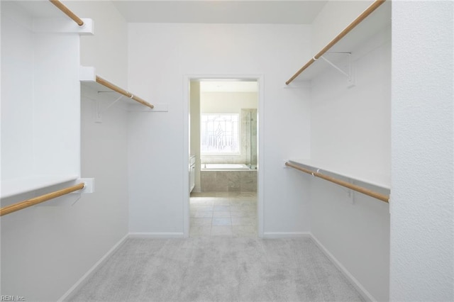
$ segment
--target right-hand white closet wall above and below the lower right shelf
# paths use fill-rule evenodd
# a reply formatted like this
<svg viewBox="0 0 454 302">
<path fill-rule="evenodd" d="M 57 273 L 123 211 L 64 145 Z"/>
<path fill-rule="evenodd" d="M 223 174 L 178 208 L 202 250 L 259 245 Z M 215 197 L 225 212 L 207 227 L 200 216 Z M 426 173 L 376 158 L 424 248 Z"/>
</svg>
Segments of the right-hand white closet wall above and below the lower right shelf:
<svg viewBox="0 0 454 302">
<path fill-rule="evenodd" d="M 333 68 L 311 83 L 311 160 L 389 186 L 391 29 L 351 51 L 355 86 L 348 88 L 348 79 Z M 346 189 L 305 179 L 311 181 L 311 233 L 369 298 L 387 301 L 388 204 L 359 193 L 352 203 Z"/>
</svg>

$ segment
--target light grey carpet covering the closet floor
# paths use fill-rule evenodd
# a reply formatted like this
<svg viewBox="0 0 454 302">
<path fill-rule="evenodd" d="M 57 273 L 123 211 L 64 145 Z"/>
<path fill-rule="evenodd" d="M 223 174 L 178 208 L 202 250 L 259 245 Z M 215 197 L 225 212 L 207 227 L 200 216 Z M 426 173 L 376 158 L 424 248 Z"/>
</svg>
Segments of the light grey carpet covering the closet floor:
<svg viewBox="0 0 454 302">
<path fill-rule="evenodd" d="M 129 238 L 70 301 L 363 301 L 309 238 Z"/>
</svg>

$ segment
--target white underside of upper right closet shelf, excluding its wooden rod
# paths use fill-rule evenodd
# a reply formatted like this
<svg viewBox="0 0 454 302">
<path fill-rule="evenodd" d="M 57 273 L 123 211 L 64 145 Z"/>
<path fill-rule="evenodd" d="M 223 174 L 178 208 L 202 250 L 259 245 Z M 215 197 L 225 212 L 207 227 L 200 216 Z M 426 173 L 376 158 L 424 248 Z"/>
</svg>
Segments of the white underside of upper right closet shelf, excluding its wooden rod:
<svg viewBox="0 0 454 302">
<path fill-rule="evenodd" d="M 375 11 L 367 16 L 367 18 L 358 24 L 358 26 L 353 28 L 347 35 L 345 35 L 345 37 L 339 40 L 338 43 L 333 45 L 333 47 L 331 47 L 324 56 L 336 65 L 338 65 L 339 62 L 346 62 L 345 57 L 343 56 L 334 57 L 329 54 L 332 52 L 352 53 L 353 50 L 358 49 L 360 45 L 364 44 L 372 36 L 380 33 L 385 28 L 389 28 L 391 26 L 391 2 L 392 1 L 389 0 L 385 1 L 384 4 L 379 6 Z M 304 71 L 294 79 L 294 82 L 309 81 L 331 68 L 333 67 L 330 67 L 328 63 L 324 62 L 320 58 L 304 69 Z"/>
</svg>

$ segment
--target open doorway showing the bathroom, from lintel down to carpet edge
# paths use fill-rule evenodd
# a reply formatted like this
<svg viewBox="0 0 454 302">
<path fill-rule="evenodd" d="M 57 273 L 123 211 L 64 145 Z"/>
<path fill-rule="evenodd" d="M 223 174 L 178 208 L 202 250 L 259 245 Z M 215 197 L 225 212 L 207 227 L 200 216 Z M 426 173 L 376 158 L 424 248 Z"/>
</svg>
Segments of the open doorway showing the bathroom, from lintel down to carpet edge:
<svg viewBox="0 0 454 302">
<path fill-rule="evenodd" d="M 189 80 L 189 236 L 258 236 L 258 79 Z"/>
</svg>

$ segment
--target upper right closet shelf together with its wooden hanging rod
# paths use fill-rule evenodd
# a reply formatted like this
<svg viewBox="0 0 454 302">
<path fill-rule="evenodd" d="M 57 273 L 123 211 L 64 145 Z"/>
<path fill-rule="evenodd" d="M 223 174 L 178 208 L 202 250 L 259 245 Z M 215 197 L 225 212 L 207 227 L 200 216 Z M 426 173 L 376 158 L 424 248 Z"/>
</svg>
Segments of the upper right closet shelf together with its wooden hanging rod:
<svg viewBox="0 0 454 302">
<path fill-rule="evenodd" d="M 326 62 L 319 62 L 319 57 L 330 52 L 352 52 L 352 50 L 357 49 L 358 46 L 365 43 L 370 37 L 384 30 L 384 28 L 391 26 L 391 1 L 375 1 L 370 8 L 374 8 L 374 5 L 378 5 L 375 10 L 363 19 L 358 16 L 355 19 L 356 22 L 353 21 L 350 23 L 336 38 L 317 52 L 314 57 L 309 59 L 286 84 L 290 84 L 295 79 L 298 79 L 298 81 L 313 79 L 326 69 L 331 68 Z M 359 19 L 362 21 L 356 25 Z M 348 33 L 345 34 L 345 31 L 348 31 Z M 314 58 L 317 60 L 314 60 Z M 339 58 L 330 57 L 329 59 L 334 63 L 339 61 Z"/>
</svg>

